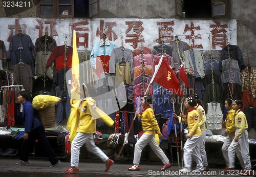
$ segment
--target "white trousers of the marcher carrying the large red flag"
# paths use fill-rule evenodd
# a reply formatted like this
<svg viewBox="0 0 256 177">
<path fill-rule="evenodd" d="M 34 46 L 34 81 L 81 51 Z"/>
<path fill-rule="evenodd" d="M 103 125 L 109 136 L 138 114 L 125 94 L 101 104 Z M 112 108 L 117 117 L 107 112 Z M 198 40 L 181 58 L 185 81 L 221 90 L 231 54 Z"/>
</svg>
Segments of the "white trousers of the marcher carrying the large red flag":
<svg viewBox="0 0 256 177">
<path fill-rule="evenodd" d="M 134 148 L 134 159 L 133 163 L 136 165 L 140 164 L 140 157 L 141 157 L 141 152 L 143 148 L 148 144 L 150 144 L 150 147 L 152 150 L 156 153 L 157 157 L 161 159 L 163 164 L 167 164 L 169 162 L 168 158 L 166 157 L 165 153 L 161 149 L 161 147 L 157 144 L 157 141 L 155 139 L 154 134 L 143 134 L 140 139 L 137 141 L 135 144 Z"/>
</svg>

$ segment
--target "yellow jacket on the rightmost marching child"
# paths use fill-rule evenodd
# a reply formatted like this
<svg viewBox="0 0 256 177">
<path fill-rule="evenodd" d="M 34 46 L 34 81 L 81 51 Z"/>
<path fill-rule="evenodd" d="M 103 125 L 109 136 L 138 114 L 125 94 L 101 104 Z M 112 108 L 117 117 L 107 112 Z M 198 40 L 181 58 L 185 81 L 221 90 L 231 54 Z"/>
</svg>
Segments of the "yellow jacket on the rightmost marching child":
<svg viewBox="0 0 256 177">
<path fill-rule="evenodd" d="M 241 109 L 238 109 L 236 113 L 234 113 L 234 126 L 239 129 L 237 137 L 240 137 L 244 130 L 248 128 L 247 120 L 245 114 Z"/>
</svg>

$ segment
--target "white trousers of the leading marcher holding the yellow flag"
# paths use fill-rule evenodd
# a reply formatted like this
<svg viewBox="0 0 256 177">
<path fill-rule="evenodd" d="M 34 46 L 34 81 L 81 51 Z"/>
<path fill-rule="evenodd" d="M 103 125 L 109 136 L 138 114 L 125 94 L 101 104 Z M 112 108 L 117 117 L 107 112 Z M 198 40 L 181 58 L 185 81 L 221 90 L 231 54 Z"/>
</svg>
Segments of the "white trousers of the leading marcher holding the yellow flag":
<svg viewBox="0 0 256 177">
<path fill-rule="evenodd" d="M 87 150 L 94 153 L 103 162 L 109 160 L 108 156 L 106 156 L 106 154 L 104 154 L 104 152 L 95 145 L 93 134 L 83 134 L 78 132 L 71 144 L 71 167 L 78 167 L 80 147 L 82 147 L 84 143 Z"/>
</svg>

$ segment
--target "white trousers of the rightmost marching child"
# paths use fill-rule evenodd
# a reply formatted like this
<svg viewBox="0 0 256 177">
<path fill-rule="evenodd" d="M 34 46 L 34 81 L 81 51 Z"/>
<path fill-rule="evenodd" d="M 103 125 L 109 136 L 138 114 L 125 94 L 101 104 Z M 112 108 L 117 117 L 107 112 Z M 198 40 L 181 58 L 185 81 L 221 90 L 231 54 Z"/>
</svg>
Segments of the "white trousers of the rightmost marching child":
<svg viewBox="0 0 256 177">
<path fill-rule="evenodd" d="M 236 135 L 238 133 L 238 129 L 236 130 Z M 249 153 L 249 144 L 248 144 L 248 131 L 244 130 L 243 134 L 239 137 L 238 142 L 234 142 L 232 140 L 230 146 L 228 147 L 228 159 L 229 159 L 229 168 L 234 168 L 234 158 L 236 157 L 237 148 L 242 149 L 242 159 L 244 161 L 244 169 L 247 171 L 251 170 L 251 161 L 250 161 L 250 153 Z"/>
</svg>

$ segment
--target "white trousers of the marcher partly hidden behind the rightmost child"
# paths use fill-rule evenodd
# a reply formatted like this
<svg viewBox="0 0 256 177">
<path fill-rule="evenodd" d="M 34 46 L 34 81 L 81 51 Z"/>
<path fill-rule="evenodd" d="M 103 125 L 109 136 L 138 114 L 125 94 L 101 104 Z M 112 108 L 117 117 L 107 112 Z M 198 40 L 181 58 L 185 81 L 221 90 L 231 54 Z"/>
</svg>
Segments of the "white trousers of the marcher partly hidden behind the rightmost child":
<svg viewBox="0 0 256 177">
<path fill-rule="evenodd" d="M 231 142 L 233 141 L 234 137 L 230 137 L 230 136 L 227 136 L 226 140 L 224 141 L 223 145 L 222 145 L 222 154 L 223 154 L 223 157 L 224 157 L 224 160 L 225 160 L 225 163 L 226 163 L 226 167 L 229 167 L 229 160 L 228 160 L 228 147 L 230 146 Z M 243 158 L 242 158 L 242 153 L 241 153 L 241 148 L 240 146 L 238 146 L 236 148 L 236 154 L 237 154 L 237 157 L 239 159 L 239 162 L 242 166 L 242 168 L 244 169 L 244 161 L 243 161 Z"/>
</svg>

